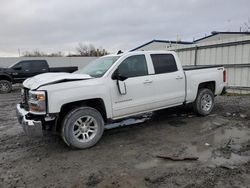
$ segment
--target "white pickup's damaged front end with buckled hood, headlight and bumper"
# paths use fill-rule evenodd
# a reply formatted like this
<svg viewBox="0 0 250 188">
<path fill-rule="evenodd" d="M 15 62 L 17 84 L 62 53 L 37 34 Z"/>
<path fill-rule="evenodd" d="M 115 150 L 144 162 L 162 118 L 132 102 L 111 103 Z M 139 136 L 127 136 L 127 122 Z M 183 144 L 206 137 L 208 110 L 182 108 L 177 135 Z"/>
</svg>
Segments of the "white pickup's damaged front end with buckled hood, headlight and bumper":
<svg viewBox="0 0 250 188">
<path fill-rule="evenodd" d="M 91 78 L 84 74 L 44 73 L 26 79 L 21 91 L 22 102 L 16 107 L 18 121 L 23 126 L 24 132 L 28 136 L 41 136 L 47 130 L 56 132 L 58 114 L 49 113 L 48 91 L 39 88 Z"/>
</svg>

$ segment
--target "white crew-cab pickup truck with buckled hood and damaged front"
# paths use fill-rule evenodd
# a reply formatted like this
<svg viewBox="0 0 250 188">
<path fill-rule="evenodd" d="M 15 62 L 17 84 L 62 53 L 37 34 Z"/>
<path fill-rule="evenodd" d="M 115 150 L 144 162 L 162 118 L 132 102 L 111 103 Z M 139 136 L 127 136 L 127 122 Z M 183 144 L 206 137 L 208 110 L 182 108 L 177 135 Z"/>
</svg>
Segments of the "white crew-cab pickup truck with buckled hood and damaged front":
<svg viewBox="0 0 250 188">
<path fill-rule="evenodd" d="M 107 55 L 75 73 L 45 73 L 23 82 L 19 123 L 28 135 L 57 131 L 73 148 L 89 148 L 105 125 L 191 103 L 202 116 L 226 82 L 221 66 L 183 68 L 171 51 Z"/>
</svg>

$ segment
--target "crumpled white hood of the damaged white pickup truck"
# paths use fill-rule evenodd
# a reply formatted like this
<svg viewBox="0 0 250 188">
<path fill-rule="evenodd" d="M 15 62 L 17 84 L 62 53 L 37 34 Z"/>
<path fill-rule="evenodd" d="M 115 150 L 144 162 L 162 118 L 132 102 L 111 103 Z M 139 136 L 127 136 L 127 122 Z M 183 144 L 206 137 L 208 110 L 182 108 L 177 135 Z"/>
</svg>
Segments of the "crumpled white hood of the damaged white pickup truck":
<svg viewBox="0 0 250 188">
<path fill-rule="evenodd" d="M 86 80 L 92 78 L 87 74 L 72 74 L 72 73 L 44 73 L 37 76 L 26 79 L 23 82 L 25 88 L 31 90 L 37 89 L 44 85 L 75 81 L 75 80 Z"/>
</svg>

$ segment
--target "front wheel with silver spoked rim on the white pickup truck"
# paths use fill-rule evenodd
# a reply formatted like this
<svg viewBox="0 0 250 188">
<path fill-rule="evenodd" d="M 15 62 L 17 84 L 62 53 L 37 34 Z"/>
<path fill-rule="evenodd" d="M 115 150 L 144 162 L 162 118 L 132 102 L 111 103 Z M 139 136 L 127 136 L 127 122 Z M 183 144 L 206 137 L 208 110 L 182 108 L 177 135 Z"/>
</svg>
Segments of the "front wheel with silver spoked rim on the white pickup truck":
<svg viewBox="0 0 250 188">
<path fill-rule="evenodd" d="M 88 124 L 87 118 L 93 119 L 93 122 L 91 122 L 91 124 L 89 125 L 87 125 Z M 81 123 L 79 123 L 79 121 L 81 121 Z M 79 126 L 79 124 L 81 125 Z M 87 126 L 91 128 L 86 128 Z M 93 133 L 89 132 L 93 131 L 92 130 L 93 127 L 96 129 L 95 132 Z M 82 130 L 85 128 L 88 130 Z M 99 111 L 91 107 L 78 107 L 70 111 L 65 116 L 62 122 L 61 136 L 64 142 L 70 147 L 77 149 L 86 149 L 94 146 L 100 140 L 103 131 L 104 131 L 104 121 Z M 80 135 L 77 137 L 76 133 L 77 135 L 78 133 Z M 86 135 L 92 138 L 86 140 L 85 138 Z"/>
</svg>

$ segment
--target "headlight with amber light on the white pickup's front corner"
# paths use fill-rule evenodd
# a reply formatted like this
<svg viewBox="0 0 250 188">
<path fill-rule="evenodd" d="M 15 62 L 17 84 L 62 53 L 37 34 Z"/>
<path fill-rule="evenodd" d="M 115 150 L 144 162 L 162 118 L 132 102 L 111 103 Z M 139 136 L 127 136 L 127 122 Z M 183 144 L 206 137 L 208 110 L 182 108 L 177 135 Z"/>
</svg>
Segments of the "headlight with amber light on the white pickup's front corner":
<svg viewBox="0 0 250 188">
<path fill-rule="evenodd" d="M 29 91 L 29 110 L 33 114 L 46 114 L 46 92 Z"/>
</svg>

